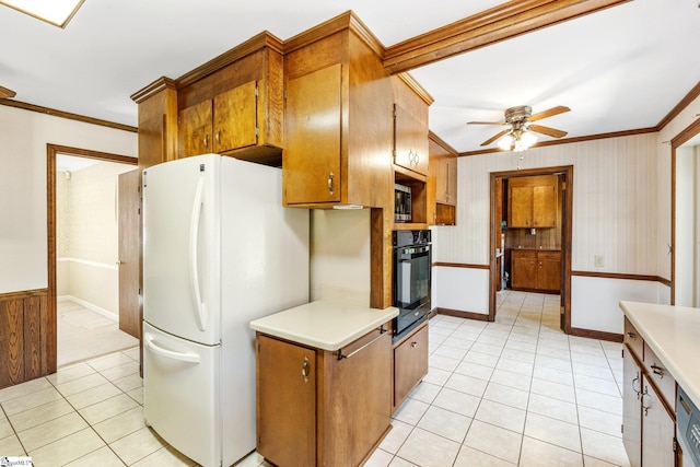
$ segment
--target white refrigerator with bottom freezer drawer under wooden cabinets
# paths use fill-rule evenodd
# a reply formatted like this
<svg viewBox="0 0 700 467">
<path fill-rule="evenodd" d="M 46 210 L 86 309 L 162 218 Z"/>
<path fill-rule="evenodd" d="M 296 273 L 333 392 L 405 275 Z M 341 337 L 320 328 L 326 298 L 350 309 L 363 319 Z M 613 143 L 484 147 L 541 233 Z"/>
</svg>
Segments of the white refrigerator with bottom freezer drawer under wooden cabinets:
<svg viewBox="0 0 700 467">
<path fill-rule="evenodd" d="M 308 210 L 218 154 L 143 171 L 143 416 L 203 467 L 255 450 L 250 320 L 308 301 Z"/>
</svg>

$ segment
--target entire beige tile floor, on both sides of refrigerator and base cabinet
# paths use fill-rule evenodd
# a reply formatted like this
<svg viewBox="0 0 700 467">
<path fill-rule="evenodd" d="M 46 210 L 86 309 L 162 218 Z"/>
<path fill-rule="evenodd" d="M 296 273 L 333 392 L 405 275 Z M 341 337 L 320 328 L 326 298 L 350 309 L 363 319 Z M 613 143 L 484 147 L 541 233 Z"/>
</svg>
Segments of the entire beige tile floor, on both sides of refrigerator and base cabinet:
<svg viewBox="0 0 700 467">
<path fill-rule="evenodd" d="M 495 323 L 438 316 L 430 373 L 368 466 L 627 466 L 620 345 L 558 330 L 558 296 L 503 291 Z M 143 424 L 139 352 L 0 390 L 0 456 L 194 466 Z M 269 464 L 257 454 L 240 466 Z"/>
</svg>

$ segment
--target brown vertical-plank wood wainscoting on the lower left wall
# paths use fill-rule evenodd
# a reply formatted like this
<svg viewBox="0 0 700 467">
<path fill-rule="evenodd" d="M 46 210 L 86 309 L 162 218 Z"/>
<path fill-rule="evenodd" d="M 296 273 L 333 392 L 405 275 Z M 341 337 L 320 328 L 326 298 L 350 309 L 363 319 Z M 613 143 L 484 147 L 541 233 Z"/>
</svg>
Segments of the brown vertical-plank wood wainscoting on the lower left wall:
<svg viewBox="0 0 700 467">
<path fill-rule="evenodd" d="M 46 289 L 0 294 L 0 388 L 56 371 L 51 324 Z"/>
</svg>

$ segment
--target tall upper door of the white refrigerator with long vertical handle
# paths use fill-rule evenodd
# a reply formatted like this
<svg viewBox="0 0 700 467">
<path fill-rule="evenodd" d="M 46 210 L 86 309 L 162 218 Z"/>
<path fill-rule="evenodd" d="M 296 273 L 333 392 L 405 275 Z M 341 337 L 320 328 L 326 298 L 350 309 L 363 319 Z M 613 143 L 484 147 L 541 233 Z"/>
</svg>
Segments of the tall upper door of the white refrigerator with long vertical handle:
<svg viewBox="0 0 700 467">
<path fill-rule="evenodd" d="M 143 319 L 205 345 L 221 341 L 221 156 L 143 171 Z"/>
</svg>

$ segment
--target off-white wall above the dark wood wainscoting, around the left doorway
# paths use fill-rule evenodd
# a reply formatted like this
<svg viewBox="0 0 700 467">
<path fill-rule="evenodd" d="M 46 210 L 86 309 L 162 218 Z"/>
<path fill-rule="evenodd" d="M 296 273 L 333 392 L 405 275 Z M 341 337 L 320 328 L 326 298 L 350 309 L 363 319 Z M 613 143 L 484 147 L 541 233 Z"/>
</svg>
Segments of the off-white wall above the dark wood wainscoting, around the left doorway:
<svg viewBox="0 0 700 467">
<path fill-rule="evenodd" d="M 44 289 L 46 144 L 136 156 L 137 133 L 0 105 L 0 293 Z"/>
</svg>

